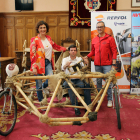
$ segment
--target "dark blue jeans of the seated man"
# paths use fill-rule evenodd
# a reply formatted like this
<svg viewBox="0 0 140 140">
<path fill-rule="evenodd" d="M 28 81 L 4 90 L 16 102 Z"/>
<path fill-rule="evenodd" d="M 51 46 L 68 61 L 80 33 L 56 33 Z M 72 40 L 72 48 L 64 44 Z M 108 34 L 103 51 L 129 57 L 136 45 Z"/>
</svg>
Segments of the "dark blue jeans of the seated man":
<svg viewBox="0 0 140 140">
<path fill-rule="evenodd" d="M 81 81 L 80 79 L 71 79 L 71 82 L 80 88 L 90 88 L 89 84 Z M 63 83 L 63 86 L 65 88 L 69 88 L 69 85 L 66 81 Z M 68 89 L 68 93 L 69 93 L 69 97 L 71 100 L 71 104 L 78 106 L 78 102 L 77 102 L 75 93 L 71 89 Z M 89 105 L 91 103 L 90 89 L 84 89 L 84 100 L 87 105 Z"/>
</svg>

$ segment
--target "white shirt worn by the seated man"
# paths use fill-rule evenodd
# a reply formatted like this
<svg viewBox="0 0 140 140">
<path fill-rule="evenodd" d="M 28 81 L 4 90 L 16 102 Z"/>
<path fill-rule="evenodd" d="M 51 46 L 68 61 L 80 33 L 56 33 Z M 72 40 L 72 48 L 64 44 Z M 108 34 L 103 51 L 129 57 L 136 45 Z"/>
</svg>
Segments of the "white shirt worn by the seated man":
<svg viewBox="0 0 140 140">
<path fill-rule="evenodd" d="M 71 63 L 70 63 L 70 66 L 73 66 L 73 65 L 79 63 L 81 60 L 82 60 L 81 57 L 76 57 L 74 60 L 72 60 L 72 59 L 70 58 L 70 56 L 68 56 L 68 57 L 66 57 L 66 58 L 63 58 L 61 69 L 64 70 L 64 72 L 65 72 L 66 74 L 71 74 L 70 71 L 71 71 L 71 72 L 74 72 L 73 68 L 70 67 L 70 68 L 69 68 L 70 71 L 69 71 L 68 68 L 66 68 L 66 69 L 63 68 L 64 65 L 66 65 L 67 62 L 71 62 Z M 83 66 L 84 66 L 84 63 L 81 62 L 80 65 L 81 65 L 81 67 L 83 67 Z M 74 73 L 73 75 L 77 75 L 77 73 Z"/>
</svg>

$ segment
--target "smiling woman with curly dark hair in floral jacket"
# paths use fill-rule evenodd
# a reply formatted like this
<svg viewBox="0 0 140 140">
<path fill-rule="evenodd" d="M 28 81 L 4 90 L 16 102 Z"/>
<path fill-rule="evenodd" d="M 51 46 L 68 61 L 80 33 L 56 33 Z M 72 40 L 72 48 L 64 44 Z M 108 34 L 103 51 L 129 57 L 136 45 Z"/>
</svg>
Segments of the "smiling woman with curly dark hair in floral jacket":
<svg viewBox="0 0 140 140">
<path fill-rule="evenodd" d="M 41 76 L 52 75 L 54 69 L 54 61 L 53 61 L 53 49 L 57 51 L 66 51 L 65 47 L 61 47 L 55 44 L 51 37 L 46 35 L 49 32 L 49 26 L 44 21 L 39 21 L 36 26 L 36 31 L 39 33 L 36 37 L 31 38 L 30 45 L 30 59 L 31 59 L 31 68 L 34 75 Z M 42 101 L 42 89 L 48 86 L 48 80 L 46 80 L 42 85 L 42 80 L 36 80 L 36 89 L 38 100 Z"/>
</svg>

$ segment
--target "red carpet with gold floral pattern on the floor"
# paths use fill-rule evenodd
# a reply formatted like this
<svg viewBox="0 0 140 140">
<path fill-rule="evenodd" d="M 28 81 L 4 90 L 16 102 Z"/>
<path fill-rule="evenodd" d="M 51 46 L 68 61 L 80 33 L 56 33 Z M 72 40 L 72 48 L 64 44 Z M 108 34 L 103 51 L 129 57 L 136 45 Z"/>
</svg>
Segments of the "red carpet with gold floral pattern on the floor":
<svg viewBox="0 0 140 140">
<path fill-rule="evenodd" d="M 121 94 L 121 125 L 117 127 L 116 111 L 107 108 L 105 97 L 97 120 L 81 126 L 49 126 L 38 117 L 18 106 L 18 118 L 14 130 L 0 140 L 139 140 L 140 139 L 140 97 Z M 43 111 L 42 111 L 43 112 Z M 81 109 L 81 116 L 84 110 Z M 74 117 L 72 108 L 51 108 L 51 117 Z"/>
</svg>

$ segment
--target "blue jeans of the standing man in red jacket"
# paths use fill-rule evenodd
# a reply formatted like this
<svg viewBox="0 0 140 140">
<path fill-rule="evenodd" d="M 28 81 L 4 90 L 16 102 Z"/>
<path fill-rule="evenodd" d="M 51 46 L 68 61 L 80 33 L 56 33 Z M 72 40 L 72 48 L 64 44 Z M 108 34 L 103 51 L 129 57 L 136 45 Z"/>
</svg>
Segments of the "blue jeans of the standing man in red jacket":
<svg viewBox="0 0 140 140">
<path fill-rule="evenodd" d="M 107 72 L 109 72 L 111 70 L 111 65 L 108 66 L 95 66 L 95 71 L 96 72 L 101 72 L 106 74 Z M 100 91 L 100 89 L 102 88 L 102 78 L 97 78 L 97 88 L 98 88 L 98 92 Z M 111 84 L 109 85 L 109 88 L 107 90 L 107 100 L 112 100 L 112 90 L 111 90 Z"/>
</svg>

